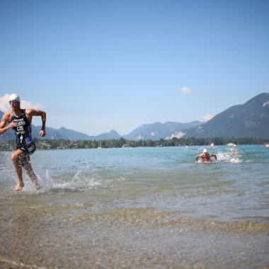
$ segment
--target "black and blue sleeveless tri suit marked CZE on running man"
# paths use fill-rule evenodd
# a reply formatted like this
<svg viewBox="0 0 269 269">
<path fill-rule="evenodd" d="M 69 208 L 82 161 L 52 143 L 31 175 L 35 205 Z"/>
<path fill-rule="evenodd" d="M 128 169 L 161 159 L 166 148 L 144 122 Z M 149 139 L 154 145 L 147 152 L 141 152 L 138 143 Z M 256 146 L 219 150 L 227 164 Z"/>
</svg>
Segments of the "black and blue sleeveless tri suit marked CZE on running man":
<svg viewBox="0 0 269 269">
<path fill-rule="evenodd" d="M 35 142 L 32 138 L 32 125 L 28 120 L 25 109 L 21 110 L 21 115 L 16 117 L 11 112 L 11 122 L 15 122 L 16 126 L 13 127 L 16 136 L 17 149 L 23 151 L 24 156 L 19 159 L 21 166 L 25 166 L 30 163 L 30 154 L 35 152 Z"/>
</svg>

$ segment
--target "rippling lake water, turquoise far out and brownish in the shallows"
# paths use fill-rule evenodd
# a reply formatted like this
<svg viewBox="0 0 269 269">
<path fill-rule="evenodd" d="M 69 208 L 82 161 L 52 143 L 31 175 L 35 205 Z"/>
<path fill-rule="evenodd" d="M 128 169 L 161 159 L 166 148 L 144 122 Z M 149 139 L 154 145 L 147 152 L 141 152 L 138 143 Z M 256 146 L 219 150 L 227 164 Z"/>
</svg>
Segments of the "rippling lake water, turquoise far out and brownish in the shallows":
<svg viewBox="0 0 269 269">
<path fill-rule="evenodd" d="M 0 267 L 269 268 L 269 148 L 207 148 L 0 151 Z"/>
</svg>

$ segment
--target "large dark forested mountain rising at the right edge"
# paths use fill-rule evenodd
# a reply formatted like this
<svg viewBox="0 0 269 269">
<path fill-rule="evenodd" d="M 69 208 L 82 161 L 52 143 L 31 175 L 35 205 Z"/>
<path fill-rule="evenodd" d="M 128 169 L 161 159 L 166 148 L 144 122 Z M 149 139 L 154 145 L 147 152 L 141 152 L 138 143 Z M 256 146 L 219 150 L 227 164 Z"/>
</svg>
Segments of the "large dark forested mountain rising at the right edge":
<svg viewBox="0 0 269 269">
<path fill-rule="evenodd" d="M 184 132 L 183 138 L 269 138 L 269 93 L 261 93 L 243 105 L 234 105 L 205 124 Z"/>
</svg>

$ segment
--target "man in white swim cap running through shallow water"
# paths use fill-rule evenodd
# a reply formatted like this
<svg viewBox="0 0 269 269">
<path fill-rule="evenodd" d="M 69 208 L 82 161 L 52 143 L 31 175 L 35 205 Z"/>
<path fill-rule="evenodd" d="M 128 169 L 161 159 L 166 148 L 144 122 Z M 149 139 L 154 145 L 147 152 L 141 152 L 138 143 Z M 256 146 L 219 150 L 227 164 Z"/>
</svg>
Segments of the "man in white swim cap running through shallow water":
<svg viewBox="0 0 269 269">
<path fill-rule="evenodd" d="M 16 135 L 17 150 L 11 154 L 11 160 L 18 176 L 18 183 L 13 190 L 21 190 L 24 187 L 21 167 L 25 169 L 31 181 L 35 184 L 35 188 L 39 190 L 41 187 L 38 183 L 38 177 L 30 164 L 30 154 L 35 152 L 31 122 L 33 116 L 41 116 L 42 128 L 39 135 L 40 137 L 45 137 L 46 113 L 42 110 L 21 109 L 20 97 L 16 93 L 11 94 L 9 97 L 9 104 L 12 110 L 6 112 L 1 119 L 0 135 L 10 128 L 14 130 Z M 6 123 L 8 123 L 7 126 Z"/>
</svg>

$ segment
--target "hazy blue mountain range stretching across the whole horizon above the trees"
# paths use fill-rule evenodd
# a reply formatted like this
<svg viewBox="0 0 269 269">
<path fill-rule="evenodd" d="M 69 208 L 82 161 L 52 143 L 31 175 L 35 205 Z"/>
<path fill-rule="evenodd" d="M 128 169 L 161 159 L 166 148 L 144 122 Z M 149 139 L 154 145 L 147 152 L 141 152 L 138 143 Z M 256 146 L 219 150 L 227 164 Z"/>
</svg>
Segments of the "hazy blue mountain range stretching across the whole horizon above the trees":
<svg viewBox="0 0 269 269">
<path fill-rule="evenodd" d="M 0 118 L 4 113 L 0 111 Z M 39 137 L 40 126 L 33 125 L 33 137 Z M 46 127 L 44 139 L 68 140 L 102 140 L 120 139 L 169 139 L 173 137 L 252 137 L 269 138 L 269 93 L 261 93 L 251 98 L 243 105 L 234 105 L 214 116 L 208 122 L 193 121 L 155 122 L 142 125 L 128 135 L 120 136 L 115 130 L 97 136 L 88 136 L 81 132 L 68 130 L 64 127 L 57 129 Z M 13 130 L 8 130 L 0 136 L 1 140 L 14 139 Z"/>
</svg>

